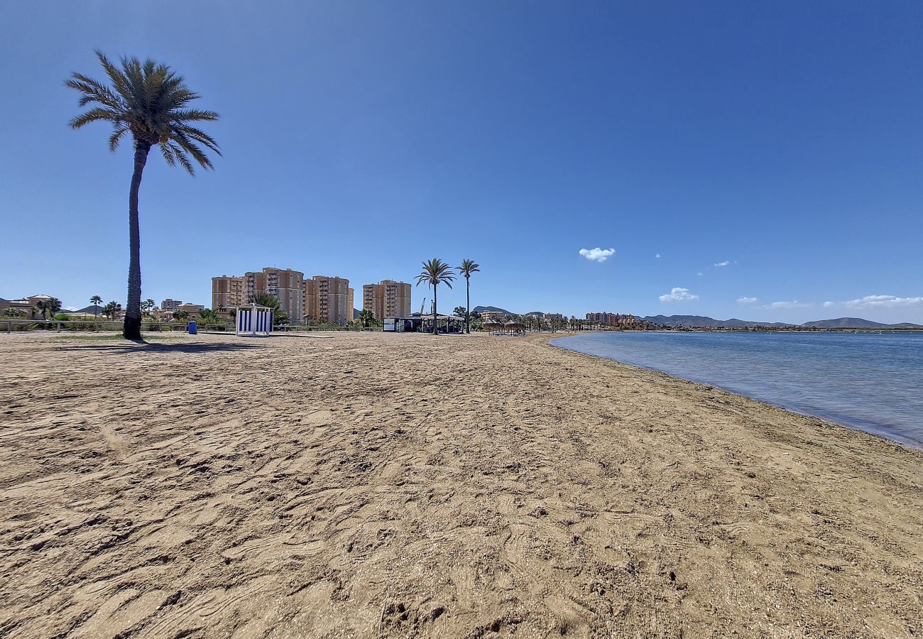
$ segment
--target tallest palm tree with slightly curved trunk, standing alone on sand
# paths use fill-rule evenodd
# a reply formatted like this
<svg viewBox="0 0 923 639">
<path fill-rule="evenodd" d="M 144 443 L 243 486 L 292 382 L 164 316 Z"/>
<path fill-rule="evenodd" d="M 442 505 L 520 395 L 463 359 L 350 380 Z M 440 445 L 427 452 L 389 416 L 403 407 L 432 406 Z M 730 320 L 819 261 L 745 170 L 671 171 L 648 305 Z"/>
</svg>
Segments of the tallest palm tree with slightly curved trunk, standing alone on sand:
<svg viewBox="0 0 923 639">
<path fill-rule="evenodd" d="M 74 73 L 66 86 L 80 91 L 80 106 L 95 103 L 89 111 L 70 121 L 80 128 L 90 122 L 109 122 L 109 150 L 115 151 L 121 139 L 130 133 L 135 144 L 135 169 L 128 191 L 128 303 L 123 334 L 128 340 L 141 339 L 141 232 L 138 225 L 138 188 L 151 148 L 159 146 L 163 160 L 170 166 L 179 163 L 194 175 L 193 161 L 210 169 L 211 161 L 202 147 L 221 155 L 218 143 L 190 122 L 218 119 L 214 111 L 188 108 L 198 94 L 186 88 L 181 76 L 169 66 L 153 60 L 143 63 L 136 57 L 123 57 L 120 67 L 97 51 L 111 86 L 81 73 Z M 201 145 L 201 146 L 199 146 Z M 191 158 L 191 160 L 190 160 Z"/>
</svg>

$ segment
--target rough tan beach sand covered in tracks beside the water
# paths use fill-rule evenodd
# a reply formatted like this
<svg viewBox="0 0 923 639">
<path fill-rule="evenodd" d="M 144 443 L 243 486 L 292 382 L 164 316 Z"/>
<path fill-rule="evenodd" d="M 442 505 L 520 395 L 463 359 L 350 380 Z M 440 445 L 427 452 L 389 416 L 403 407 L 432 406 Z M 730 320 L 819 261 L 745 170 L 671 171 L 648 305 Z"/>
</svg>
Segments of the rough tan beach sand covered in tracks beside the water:
<svg viewBox="0 0 923 639">
<path fill-rule="evenodd" d="M 923 636 L 923 453 L 545 339 L 2 335 L 0 636 Z"/>
</svg>

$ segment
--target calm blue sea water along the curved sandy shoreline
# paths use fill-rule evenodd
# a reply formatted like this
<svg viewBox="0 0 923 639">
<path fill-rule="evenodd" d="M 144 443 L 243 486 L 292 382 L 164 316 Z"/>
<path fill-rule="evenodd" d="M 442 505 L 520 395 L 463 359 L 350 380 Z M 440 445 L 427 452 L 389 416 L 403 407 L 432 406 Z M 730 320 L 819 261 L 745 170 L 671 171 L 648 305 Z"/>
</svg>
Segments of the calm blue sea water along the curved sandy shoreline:
<svg viewBox="0 0 923 639">
<path fill-rule="evenodd" d="M 554 344 L 923 449 L 923 333 L 596 332 Z"/>
</svg>

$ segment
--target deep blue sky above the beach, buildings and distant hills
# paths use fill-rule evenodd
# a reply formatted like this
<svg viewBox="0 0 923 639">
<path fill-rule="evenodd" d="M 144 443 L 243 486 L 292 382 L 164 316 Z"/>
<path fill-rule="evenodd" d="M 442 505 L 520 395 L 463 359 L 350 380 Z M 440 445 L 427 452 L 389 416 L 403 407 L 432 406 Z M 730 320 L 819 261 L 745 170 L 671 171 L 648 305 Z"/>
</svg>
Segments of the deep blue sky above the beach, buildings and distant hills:
<svg viewBox="0 0 923 639">
<path fill-rule="evenodd" d="M 471 258 L 518 312 L 923 323 L 923 3 L 8 2 L 0 296 L 125 299 L 130 145 L 66 127 L 97 47 L 222 115 L 216 171 L 151 154 L 143 297 Z"/>
</svg>

